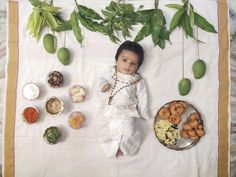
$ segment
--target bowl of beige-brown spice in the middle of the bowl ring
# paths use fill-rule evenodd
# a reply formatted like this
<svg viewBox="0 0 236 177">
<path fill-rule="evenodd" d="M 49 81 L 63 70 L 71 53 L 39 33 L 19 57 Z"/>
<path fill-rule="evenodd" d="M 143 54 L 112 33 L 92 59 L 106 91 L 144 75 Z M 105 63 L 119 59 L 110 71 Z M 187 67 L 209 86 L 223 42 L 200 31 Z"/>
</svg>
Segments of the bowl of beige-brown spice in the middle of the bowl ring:
<svg viewBox="0 0 236 177">
<path fill-rule="evenodd" d="M 58 115 L 64 109 L 63 101 L 60 98 L 55 97 L 55 96 L 47 98 L 45 109 L 49 114 L 53 116 Z"/>
</svg>

